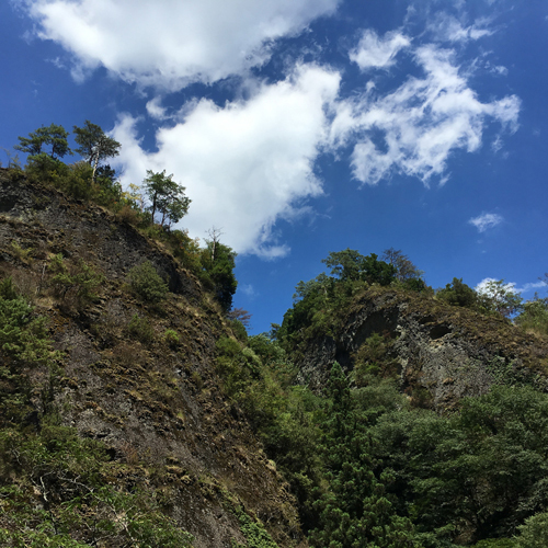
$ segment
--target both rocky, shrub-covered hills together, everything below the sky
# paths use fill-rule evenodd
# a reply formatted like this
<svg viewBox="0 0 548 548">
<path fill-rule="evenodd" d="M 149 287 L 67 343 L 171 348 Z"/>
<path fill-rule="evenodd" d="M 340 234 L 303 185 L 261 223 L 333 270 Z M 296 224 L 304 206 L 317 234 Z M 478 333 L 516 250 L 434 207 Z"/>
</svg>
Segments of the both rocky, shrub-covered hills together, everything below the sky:
<svg viewBox="0 0 548 548">
<path fill-rule="evenodd" d="M 545 335 L 346 250 L 249 336 L 221 243 L 62 169 L 0 169 L 2 546 L 546 546 Z"/>
</svg>

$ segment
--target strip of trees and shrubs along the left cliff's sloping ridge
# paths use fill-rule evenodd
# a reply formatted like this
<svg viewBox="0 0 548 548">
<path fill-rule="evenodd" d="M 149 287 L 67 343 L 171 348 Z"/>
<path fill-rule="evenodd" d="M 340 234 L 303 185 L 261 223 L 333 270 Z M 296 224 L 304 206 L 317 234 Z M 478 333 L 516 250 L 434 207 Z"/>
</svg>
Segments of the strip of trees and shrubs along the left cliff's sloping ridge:
<svg viewBox="0 0 548 548">
<path fill-rule="evenodd" d="M 124 192 L 116 172 L 104 161 L 119 155 L 121 144 L 107 137 L 96 124 L 85 121 L 82 127 L 73 126 L 75 151 L 83 161 L 66 164 L 61 159 L 72 155 L 68 144 L 69 133 L 52 124 L 41 127 L 28 137 L 19 137 L 16 150 L 27 155 L 25 174 L 42 184 L 50 184 L 68 195 L 89 201 L 111 209 L 118 220 L 133 225 L 149 238 L 161 241 L 180 263 L 192 271 L 212 292 L 221 311 L 227 313 L 232 306 L 237 281 L 233 275 L 236 253 L 219 241 L 220 232 L 213 230 L 205 249 L 197 239 L 189 237 L 185 230 L 171 230 L 187 213 L 190 197 L 184 186 L 167 175 L 165 170 L 147 170 L 142 185 L 130 184 Z M 18 162 L 14 162 L 19 165 Z M 14 170 L 14 176 L 20 169 Z M 146 205 L 146 201 L 150 202 Z M 157 225 L 157 218 L 159 224 Z M 147 292 L 145 292 L 147 293 Z M 152 299 L 161 298 L 152 292 Z M 148 300 L 148 296 L 141 295 Z"/>
</svg>

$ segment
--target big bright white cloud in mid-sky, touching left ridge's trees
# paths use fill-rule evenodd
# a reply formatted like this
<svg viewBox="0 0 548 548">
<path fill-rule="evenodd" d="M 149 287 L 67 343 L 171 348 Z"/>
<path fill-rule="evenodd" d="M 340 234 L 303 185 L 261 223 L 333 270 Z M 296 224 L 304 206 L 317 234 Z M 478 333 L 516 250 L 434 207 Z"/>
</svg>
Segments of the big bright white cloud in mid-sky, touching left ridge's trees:
<svg viewBox="0 0 548 548">
<path fill-rule="evenodd" d="M 322 192 L 313 163 L 339 82 L 339 73 L 308 65 L 284 81 L 256 87 L 248 101 L 221 109 L 203 99 L 184 122 L 158 130 L 158 151 L 151 153 L 126 115 L 113 132 L 122 144 L 123 183 L 140 182 L 147 169 L 165 169 L 192 199 L 182 225 L 193 236 L 203 238 L 215 224 L 238 252 L 283 255 L 288 250 L 276 244 L 273 226 Z"/>
</svg>

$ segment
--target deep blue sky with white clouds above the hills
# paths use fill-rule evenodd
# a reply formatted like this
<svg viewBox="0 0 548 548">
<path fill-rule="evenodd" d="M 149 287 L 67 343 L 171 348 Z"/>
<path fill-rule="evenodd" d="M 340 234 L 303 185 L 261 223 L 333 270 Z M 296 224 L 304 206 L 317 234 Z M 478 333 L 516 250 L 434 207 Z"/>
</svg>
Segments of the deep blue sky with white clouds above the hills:
<svg viewBox="0 0 548 548">
<path fill-rule="evenodd" d="M 345 248 L 546 293 L 546 0 L 11 0 L 0 52 L 0 146 L 90 119 L 173 173 L 253 332 Z"/>
</svg>

